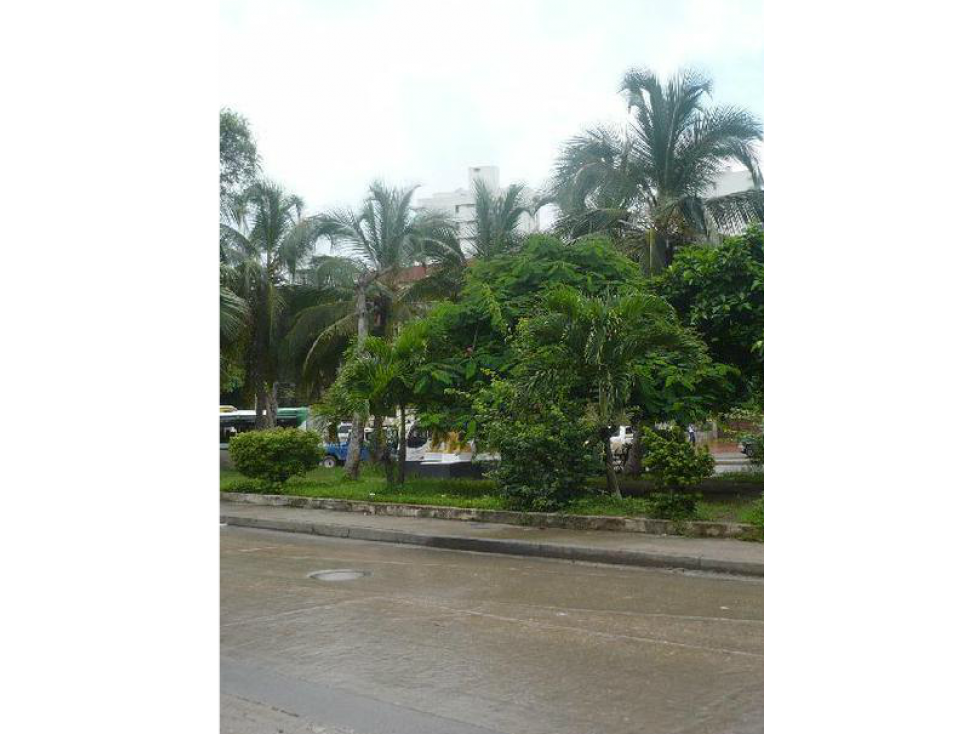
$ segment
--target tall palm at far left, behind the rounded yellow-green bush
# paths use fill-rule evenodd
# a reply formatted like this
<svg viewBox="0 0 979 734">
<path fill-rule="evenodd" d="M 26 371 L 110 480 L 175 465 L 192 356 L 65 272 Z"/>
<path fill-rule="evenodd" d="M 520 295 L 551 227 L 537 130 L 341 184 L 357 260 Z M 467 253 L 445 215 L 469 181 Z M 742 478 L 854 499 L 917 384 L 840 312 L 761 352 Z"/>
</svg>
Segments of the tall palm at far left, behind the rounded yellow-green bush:
<svg viewBox="0 0 979 734">
<path fill-rule="evenodd" d="M 283 287 L 295 279 L 322 232 L 316 219 L 303 217 L 301 199 L 270 181 L 232 197 L 223 219 L 222 315 L 229 319 L 223 331 L 240 340 L 246 388 L 256 398 L 255 425 L 271 428 L 278 411 L 280 344 L 288 326 Z"/>
</svg>

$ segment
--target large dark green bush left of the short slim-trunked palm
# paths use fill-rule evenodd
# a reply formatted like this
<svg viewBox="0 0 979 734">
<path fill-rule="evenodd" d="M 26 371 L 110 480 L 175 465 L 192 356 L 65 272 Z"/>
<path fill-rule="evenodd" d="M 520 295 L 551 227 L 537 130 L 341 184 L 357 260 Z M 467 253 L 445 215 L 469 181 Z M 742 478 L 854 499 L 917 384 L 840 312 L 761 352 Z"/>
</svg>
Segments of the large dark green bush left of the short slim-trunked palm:
<svg viewBox="0 0 979 734">
<path fill-rule="evenodd" d="M 585 478 L 598 468 L 589 446 L 594 431 L 559 408 L 545 409 L 533 422 L 494 423 L 487 432 L 500 453 L 500 466 L 489 476 L 508 506 L 551 512 L 590 491 Z"/>
</svg>

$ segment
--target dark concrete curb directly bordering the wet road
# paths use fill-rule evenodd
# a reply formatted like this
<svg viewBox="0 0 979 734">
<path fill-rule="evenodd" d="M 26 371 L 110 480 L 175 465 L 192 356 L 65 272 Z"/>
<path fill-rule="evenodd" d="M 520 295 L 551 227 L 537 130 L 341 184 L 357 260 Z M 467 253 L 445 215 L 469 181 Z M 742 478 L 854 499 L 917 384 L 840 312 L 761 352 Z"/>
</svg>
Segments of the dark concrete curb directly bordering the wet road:
<svg viewBox="0 0 979 734">
<path fill-rule="evenodd" d="M 455 535 L 425 535 L 401 530 L 364 528 L 328 523 L 273 520 L 257 517 L 222 515 L 221 522 L 246 528 L 280 530 L 288 533 L 305 533 L 330 538 L 368 540 L 381 543 L 420 545 L 446 550 L 476 551 L 511 556 L 559 558 L 567 561 L 607 563 L 613 566 L 641 566 L 645 568 L 682 568 L 691 571 L 716 571 L 744 576 L 765 576 L 765 564 L 754 561 L 728 561 L 703 556 L 674 556 L 666 553 L 646 553 L 584 546 L 527 543 L 519 540 L 495 540 L 490 538 L 466 538 Z"/>
</svg>

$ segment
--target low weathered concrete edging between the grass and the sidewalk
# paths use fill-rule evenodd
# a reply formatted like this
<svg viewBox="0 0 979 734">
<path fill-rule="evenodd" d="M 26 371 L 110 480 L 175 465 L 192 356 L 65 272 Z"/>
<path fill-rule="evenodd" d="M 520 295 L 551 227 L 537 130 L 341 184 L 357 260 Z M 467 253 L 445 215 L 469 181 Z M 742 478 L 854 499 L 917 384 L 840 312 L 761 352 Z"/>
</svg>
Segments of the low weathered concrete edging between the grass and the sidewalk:
<svg viewBox="0 0 979 734">
<path fill-rule="evenodd" d="M 560 530 L 608 530 L 651 535 L 688 535 L 695 538 L 740 538 L 749 533 L 750 525 L 726 522 L 684 522 L 652 520 L 643 517 L 614 517 L 604 515 L 561 515 L 547 512 L 511 512 L 508 510 L 478 510 L 465 507 L 435 505 L 405 505 L 391 502 L 358 502 L 324 497 L 296 497 L 281 494 L 250 494 L 222 492 L 223 502 L 238 502 L 269 507 L 297 507 L 304 510 L 359 512 L 385 517 L 424 517 L 435 520 L 462 520 L 524 527 L 556 528 Z M 680 532 L 682 531 L 682 532 Z"/>
</svg>

